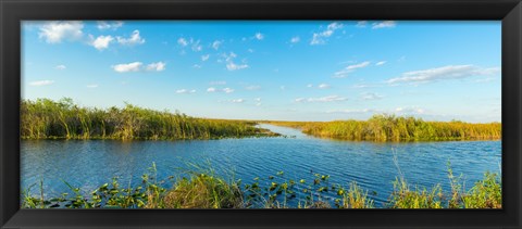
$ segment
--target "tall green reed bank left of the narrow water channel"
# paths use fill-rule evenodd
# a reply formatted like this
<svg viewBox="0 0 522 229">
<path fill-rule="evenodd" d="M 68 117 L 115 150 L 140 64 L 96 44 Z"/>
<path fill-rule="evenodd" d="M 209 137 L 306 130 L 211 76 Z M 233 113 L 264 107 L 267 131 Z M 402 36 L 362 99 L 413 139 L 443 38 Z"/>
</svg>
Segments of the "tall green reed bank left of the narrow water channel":
<svg viewBox="0 0 522 229">
<path fill-rule="evenodd" d="M 182 140 L 275 136 L 254 122 L 207 119 L 126 104 L 107 110 L 80 107 L 71 99 L 21 103 L 23 139 Z"/>
</svg>

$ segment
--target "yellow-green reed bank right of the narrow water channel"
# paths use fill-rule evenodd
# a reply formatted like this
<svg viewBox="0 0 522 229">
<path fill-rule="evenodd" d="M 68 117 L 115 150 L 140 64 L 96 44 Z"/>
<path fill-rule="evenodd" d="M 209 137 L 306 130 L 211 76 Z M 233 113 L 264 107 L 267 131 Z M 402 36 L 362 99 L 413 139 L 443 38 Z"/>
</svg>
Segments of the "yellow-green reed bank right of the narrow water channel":
<svg viewBox="0 0 522 229">
<path fill-rule="evenodd" d="M 374 115 L 368 120 L 265 123 L 299 128 L 302 132 L 316 137 L 356 141 L 497 140 L 501 138 L 500 123 L 425 122 L 421 118 L 395 115 Z"/>
</svg>

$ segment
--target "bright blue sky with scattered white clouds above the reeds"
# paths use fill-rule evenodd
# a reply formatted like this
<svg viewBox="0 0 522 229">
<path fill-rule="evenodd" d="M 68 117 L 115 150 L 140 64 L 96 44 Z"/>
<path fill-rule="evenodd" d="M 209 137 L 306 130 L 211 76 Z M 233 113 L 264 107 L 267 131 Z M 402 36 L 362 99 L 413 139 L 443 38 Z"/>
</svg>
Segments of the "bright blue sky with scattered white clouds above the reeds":
<svg viewBox="0 0 522 229">
<path fill-rule="evenodd" d="M 498 22 L 24 22 L 22 97 L 213 118 L 500 122 Z"/>
</svg>

